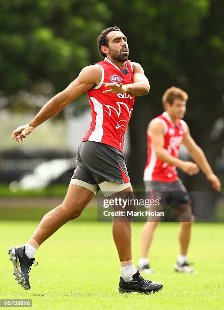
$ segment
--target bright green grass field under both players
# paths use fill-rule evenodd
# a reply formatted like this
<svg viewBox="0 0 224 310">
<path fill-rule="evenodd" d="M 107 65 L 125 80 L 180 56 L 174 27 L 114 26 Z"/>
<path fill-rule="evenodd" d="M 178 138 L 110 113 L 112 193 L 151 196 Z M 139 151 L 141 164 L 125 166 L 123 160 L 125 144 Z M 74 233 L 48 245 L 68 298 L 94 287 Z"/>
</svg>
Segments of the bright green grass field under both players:
<svg viewBox="0 0 224 310">
<path fill-rule="evenodd" d="M 177 274 L 177 223 L 158 226 L 151 263 L 163 290 L 150 295 L 120 294 L 120 263 L 111 235 L 111 223 L 77 220 L 66 224 L 35 255 L 31 289 L 14 280 L 7 249 L 28 240 L 38 222 L 1 221 L 0 298 L 32 299 L 33 309 L 223 309 L 223 224 L 196 223 L 189 251 L 195 275 Z M 143 223 L 133 223 L 133 259 L 139 258 Z"/>
</svg>

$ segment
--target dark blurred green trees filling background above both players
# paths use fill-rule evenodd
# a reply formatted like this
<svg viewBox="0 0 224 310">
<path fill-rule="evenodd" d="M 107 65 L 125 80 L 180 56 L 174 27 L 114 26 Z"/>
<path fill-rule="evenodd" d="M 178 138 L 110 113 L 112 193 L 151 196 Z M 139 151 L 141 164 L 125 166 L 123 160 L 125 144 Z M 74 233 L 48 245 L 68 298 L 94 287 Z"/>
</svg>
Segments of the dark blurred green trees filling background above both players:
<svg viewBox="0 0 224 310">
<path fill-rule="evenodd" d="M 162 112 L 161 96 L 172 85 L 189 93 L 186 121 L 214 167 L 224 138 L 223 1 L 11 0 L 0 9 L 0 107 L 27 104 L 27 92 L 52 96 L 64 89 L 100 59 L 100 31 L 117 25 L 151 84 L 150 94 L 136 99 L 130 122 L 133 183 L 142 184 L 147 124 Z M 198 190 L 208 184 L 200 175 L 193 180 Z"/>
</svg>

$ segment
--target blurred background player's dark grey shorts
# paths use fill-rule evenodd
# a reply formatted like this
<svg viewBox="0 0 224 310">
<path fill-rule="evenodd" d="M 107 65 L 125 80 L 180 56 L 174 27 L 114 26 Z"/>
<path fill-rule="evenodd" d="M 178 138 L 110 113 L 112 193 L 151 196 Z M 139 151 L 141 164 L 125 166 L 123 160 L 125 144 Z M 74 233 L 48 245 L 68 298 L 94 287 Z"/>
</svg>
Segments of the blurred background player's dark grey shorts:
<svg viewBox="0 0 224 310">
<path fill-rule="evenodd" d="M 145 182 L 147 198 L 160 198 L 160 211 L 166 210 L 168 220 L 192 221 L 192 201 L 183 182 L 179 179 L 175 182 Z M 158 210 L 158 208 L 157 208 Z"/>
</svg>

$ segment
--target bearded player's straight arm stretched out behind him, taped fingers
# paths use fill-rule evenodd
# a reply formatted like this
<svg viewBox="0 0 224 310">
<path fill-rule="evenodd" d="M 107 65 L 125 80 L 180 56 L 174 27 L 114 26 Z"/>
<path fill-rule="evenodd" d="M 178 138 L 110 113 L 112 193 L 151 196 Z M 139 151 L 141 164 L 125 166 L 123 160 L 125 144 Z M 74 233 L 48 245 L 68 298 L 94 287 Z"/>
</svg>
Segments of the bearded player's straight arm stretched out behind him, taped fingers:
<svg viewBox="0 0 224 310">
<path fill-rule="evenodd" d="M 36 114 L 34 119 L 27 125 L 18 127 L 13 131 L 12 139 L 23 141 L 26 135 L 30 134 L 37 126 L 64 109 L 70 102 L 78 98 L 85 91 L 91 89 L 100 82 L 101 69 L 99 66 L 87 66 L 79 73 L 64 91 L 51 98 Z"/>
</svg>

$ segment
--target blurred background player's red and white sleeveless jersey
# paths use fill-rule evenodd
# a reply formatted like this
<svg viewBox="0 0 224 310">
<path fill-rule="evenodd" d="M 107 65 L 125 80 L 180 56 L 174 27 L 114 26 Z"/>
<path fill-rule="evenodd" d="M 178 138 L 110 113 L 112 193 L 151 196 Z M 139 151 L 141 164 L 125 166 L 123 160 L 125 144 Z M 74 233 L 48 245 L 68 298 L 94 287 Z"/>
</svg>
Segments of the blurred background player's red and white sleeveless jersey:
<svg viewBox="0 0 224 310">
<path fill-rule="evenodd" d="M 161 122 L 164 126 L 164 148 L 178 158 L 179 149 L 187 131 L 186 123 L 178 119 L 174 124 L 167 112 L 163 112 L 151 122 Z M 144 170 L 144 181 L 175 182 L 178 180 L 177 168 L 156 157 L 151 143 L 151 134 L 147 130 L 147 163 Z"/>
</svg>

